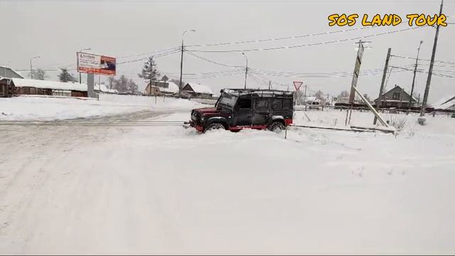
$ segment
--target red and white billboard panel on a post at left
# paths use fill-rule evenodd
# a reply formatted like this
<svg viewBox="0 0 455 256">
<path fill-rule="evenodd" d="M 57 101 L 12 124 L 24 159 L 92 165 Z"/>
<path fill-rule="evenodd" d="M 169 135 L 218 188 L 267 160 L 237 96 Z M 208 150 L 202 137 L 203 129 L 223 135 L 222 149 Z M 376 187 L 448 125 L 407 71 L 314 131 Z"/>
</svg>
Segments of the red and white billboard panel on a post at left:
<svg viewBox="0 0 455 256">
<path fill-rule="evenodd" d="M 115 75 L 115 58 L 92 53 L 77 53 L 77 72 Z"/>
</svg>

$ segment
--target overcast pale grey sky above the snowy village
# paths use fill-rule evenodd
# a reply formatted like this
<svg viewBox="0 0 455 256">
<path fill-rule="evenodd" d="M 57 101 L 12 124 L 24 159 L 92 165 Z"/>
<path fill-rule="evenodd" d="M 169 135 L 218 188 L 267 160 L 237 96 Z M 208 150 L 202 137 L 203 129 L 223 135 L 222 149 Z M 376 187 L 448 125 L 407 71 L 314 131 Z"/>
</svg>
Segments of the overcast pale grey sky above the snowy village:
<svg viewBox="0 0 455 256">
<path fill-rule="evenodd" d="M 2 1 L 2 41 L 0 65 L 23 70 L 29 68 L 32 56 L 34 68 L 58 68 L 69 65 L 75 68 L 76 51 L 91 48 L 92 53 L 117 57 L 117 63 L 144 57 L 119 58 L 127 55 L 149 53 L 181 44 L 182 32 L 186 33 L 185 44 L 210 44 L 218 42 L 250 41 L 285 36 L 301 36 L 321 32 L 339 31 L 349 27 L 329 27 L 330 14 L 399 14 L 406 22 L 406 14 L 437 14 L 440 1 Z M 455 22 L 455 1 L 444 3 L 444 14 L 449 22 Z M 358 22 L 353 28 L 361 28 Z M 455 24 L 441 28 L 437 48 L 437 60 L 455 63 L 454 42 Z M 409 28 L 406 24 L 397 27 L 365 28 L 329 35 L 306 36 L 262 43 L 241 43 L 224 46 L 188 47 L 188 50 L 241 50 L 270 48 L 274 46 L 296 46 L 358 36 L 368 36 L 385 31 Z M 423 40 L 420 58 L 431 57 L 435 29 L 417 28 L 411 31 L 390 33 L 383 36 L 365 38 L 372 41 L 371 48 L 365 50 L 360 70 L 383 68 L 387 48 L 392 54 L 415 58 L 419 41 Z M 282 50 L 259 50 L 245 52 L 249 67 L 257 70 L 283 71 L 286 73 L 334 73 L 347 72 L 342 78 L 291 78 L 271 75 L 248 77 L 248 87 L 265 87 L 264 82 L 272 80 L 292 86 L 293 80 L 302 80 L 309 91 L 323 90 L 330 95 L 338 95 L 348 90 L 352 79 L 355 61 L 354 41 L 330 43 L 320 46 L 289 48 Z M 194 54 L 228 65 L 245 65 L 240 52 Z M 161 74 L 178 77 L 180 54 L 175 53 L 156 58 Z M 412 65 L 414 60 L 392 58 L 391 65 Z M 422 64 L 429 64 L 421 61 Z M 434 73 L 455 76 L 455 64 L 436 63 Z M 132 62 L 117 66 L 118 75 L 134 78 L 141 85 L 145 82 L 137 78 L 143 62 Z M 419 65 L 428 71 L 428 65 Z M 237 68 L 238 69 L 238 68 Z M 188 53 L 184 55 L 183 80 L 200 82 L 220 90 L 222 87 L 243 87 L 244 74 L 203 78 L 225 70 L 236 70 L 222 65 L 200 60 Z M 436 71 L 437 70 L 437 71 Z M 23 71 L 23 74 L 28 72 Z M 73 71 L 75 73 L 75 71 Z M 283 73 L 284 74 L 284 73 Z M 382 72 L 376 75 L 361 75 L 358 88 L 377 97 Z M 49 80 L 56 80 L 56 72 L 48 72 Z M 226 76 L 229 75 L 229 76 Z M 284 74 L 287 75 L 287 74 Z M 256 79 L 256 80 L 255 80 Z M 102 78 L 104 80 L 104 78 Z M 417 75 L 415 91 L 423 95 L 426 73 Z M 412 72 L 392 73 L 387 82 L 390 88 L 397 84 L 410 90 Z M 286 89 L 286 86 L 276 87 Z M 455 94 L 455 78 L 433 76 L 429 102 L 444 95 Z"/>
</svg>

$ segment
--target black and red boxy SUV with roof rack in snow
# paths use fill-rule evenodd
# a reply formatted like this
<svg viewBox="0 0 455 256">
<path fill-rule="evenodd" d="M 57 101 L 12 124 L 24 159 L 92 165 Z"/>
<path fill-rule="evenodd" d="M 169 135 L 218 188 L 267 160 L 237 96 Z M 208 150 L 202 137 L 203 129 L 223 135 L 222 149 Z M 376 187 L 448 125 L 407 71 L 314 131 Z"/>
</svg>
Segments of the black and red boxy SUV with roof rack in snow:
<svg viewBox="0 0 455 256">
<path fill-rule="evenodd" d="M 215 107 L 191 111 L 191 127 L 199 132 L 243 128 L 279 132 L 292 124 L 294 92 L 282 90 L 224 89 Z"/>
</svg>

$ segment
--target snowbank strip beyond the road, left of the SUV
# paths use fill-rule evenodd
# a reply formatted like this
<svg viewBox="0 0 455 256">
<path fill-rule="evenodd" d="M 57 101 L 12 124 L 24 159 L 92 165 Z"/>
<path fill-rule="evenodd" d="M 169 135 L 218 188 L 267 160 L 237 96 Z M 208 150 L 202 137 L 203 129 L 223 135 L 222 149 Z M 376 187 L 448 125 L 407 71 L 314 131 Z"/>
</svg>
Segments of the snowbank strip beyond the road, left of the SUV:
<svg viewBox="0 0 455 256">
<path fill-rule="evenodd" d="M 1 120 L 52 120 L 99 117 L 141 110 L 181 110 L 200 103 L 171 97 L 101 94 L 91 98 L 20 96 L 0 98 Z"/>
</svg>

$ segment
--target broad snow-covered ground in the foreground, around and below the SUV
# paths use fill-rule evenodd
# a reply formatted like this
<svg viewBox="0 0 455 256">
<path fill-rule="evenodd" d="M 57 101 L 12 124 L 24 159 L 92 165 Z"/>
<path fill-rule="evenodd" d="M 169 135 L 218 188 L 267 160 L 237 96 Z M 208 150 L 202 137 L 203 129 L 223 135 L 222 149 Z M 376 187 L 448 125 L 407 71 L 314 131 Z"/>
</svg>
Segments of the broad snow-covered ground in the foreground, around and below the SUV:
<svg viewBox="0 0 455 256">
<path fill-rule="evenodd" d="M 5 127 L 0 254 L 452 255 L 455 119 L 400 117 L 413 132 Z"/>
</svg>

